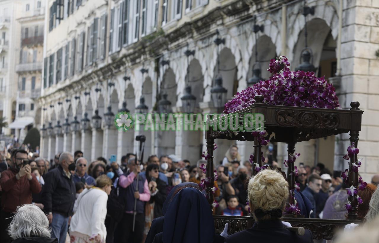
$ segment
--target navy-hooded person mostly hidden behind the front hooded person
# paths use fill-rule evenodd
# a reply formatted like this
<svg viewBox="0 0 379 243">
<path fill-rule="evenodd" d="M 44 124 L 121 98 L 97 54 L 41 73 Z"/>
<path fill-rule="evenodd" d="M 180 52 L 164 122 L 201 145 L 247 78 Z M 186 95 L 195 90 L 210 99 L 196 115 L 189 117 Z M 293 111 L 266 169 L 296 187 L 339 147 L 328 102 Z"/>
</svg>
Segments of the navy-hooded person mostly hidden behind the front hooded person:
<svg viewBox="0 0 379 243">
<path fill-rule="evenodd" d="M 152 243 L 155 235 L 163 231 L 164 215 L 166 215 L 168 206 L 170 205 L 172 199 L 174 199 L 174 196 L 180 190 L 182 190 L 183 188 L 186 188 L 186 187 L 194 187 L 194 188 L 199 189 L 199 185 L 197 185 L 196 183 L 193 183 L 193 182 L 183 182 L 183 183 L 176 185 L 174 188 L 172 188 L 171 191 L 169 192 L 169 194 L 167 195 L 166 200 L 163 203 L 163 207 L 162 207 L 163 216 L 161 216 L 159 218 L 155 218 L 152 221 L 149 233 L 147 234 L 147 237 L 145 240 L 145 243 Z"/>
</svg>

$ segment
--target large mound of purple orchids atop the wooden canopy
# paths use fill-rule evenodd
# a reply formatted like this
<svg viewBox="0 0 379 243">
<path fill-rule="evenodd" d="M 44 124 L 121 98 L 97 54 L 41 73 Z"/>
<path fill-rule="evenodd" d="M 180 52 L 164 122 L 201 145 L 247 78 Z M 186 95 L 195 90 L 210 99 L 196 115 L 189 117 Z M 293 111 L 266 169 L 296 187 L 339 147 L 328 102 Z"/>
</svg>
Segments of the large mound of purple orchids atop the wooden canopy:
<svg viewBox="0 0 379 243">
<path fill-rule="evenodd" d="M 229 114 L 255 103 L 256 95 L 263 96 L 269 105 L 295 107 L 341 108 L 333 85 L 324 77 L 318 78 L 314 72 L 290 71 L 290 63 L 285 56 L 271 59 L 269 72 L 273 75 L 264 81 L 237 92 L 235 98 L 225 104 L 224 113 Z"/>
</svg>

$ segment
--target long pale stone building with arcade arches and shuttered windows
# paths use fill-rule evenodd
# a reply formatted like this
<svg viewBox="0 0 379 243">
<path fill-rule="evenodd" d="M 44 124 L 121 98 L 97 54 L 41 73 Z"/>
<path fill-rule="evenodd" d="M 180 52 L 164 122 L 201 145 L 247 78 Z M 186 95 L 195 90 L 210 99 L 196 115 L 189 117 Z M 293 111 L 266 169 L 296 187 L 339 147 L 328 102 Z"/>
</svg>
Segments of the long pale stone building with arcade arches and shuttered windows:
<svg viewBox="0 0 379 243">
<path fill-rule="evenodd" d="M 134 138 L 143 134 L 145 154 L 176 154 L 195 163 L 205 151 L 204 132 L 122 132 L 107 122 L 109 111 L 117 113 L 126 104 L 130 113 L 143 105 L 154 113 L 167 97 L 172 111 L 180 113 L 189 86 L 194 113 L 219 113 L 211 99 L 216 76 L 221 75 L 227 89 L 226 102 L 246 88 L 253 67 L 260 65 L 262 78 L 268 78 L 269 60 L 285 55 L 294 69 L 308 46 L 316 74 L 334 83 L 341 106 L 349 108 L 358 100 L 365 110 L 359 147 L 367 179 L 379 171 L 373 163 L 379 158 L 374 149 L 379 137 L 373 132 L 379 129 L 374 119 L 379 116 L 374 107 L 379 97 L 379 6 L 370 0 L 305 1 L 314 10 L 306 21 L 303 6 L 301 0 L 49 0 L 39 98 L 42 124 L 49 129 L 41 138 L 41 156 L 80 149 L 91 161 L 116 155 L 120 162 L 122 155 L 138 149 Z M 254 25 L 260 28 L 253 31 Z M 97 115 L 102 118 L 99 128 Z M 342 156 L 348 138 L 304 142 L 296 152 L 306 164 L 322 162 L 339 170 L 347 166 Z M 233 142 L 216 143 L 215 160 L 221 161 Z M 237 145 L 247 160 L 252 144 Z M 285 144 L 276 144 L 278 161 L 285 152 Z"/>
</svg>

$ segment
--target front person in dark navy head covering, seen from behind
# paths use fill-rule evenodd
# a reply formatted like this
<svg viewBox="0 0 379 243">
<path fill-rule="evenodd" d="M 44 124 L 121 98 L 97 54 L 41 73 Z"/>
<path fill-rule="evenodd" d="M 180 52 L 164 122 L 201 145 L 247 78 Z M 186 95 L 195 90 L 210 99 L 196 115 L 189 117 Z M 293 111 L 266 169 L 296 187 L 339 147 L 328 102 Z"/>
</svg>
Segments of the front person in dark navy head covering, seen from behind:
<svg viewBox="0 0 379 243">
<path fill-rule="evenodd" d="M 164 216 L 163 232 L 153 243 L 223 243 L 215 234 L 212 211 L 207 199 L 197 188 L 179 191 Z"/>
</svg>

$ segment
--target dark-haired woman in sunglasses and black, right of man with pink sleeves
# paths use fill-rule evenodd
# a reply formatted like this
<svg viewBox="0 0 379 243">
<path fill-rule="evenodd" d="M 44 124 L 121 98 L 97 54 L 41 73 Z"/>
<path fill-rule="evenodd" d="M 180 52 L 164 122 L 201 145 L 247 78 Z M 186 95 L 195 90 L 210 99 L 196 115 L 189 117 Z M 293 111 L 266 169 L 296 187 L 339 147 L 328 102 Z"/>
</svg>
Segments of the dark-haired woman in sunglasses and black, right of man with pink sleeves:
<svg viewBox="0 0 379 243">
<path fill-rule="evenodd" d="M 144 239 L 149 233 L 153 219 L 163 216 L 162 207 L 167 197 L 167 185 L 159 179 L 159 166 L 151 164 L 146 168 L 146 179 L 149 183 L 150 201 L 145 206 Z M 144 242 L 144 240 L 143 240 Z"/>
</svg>

